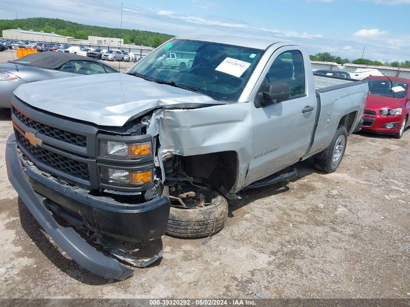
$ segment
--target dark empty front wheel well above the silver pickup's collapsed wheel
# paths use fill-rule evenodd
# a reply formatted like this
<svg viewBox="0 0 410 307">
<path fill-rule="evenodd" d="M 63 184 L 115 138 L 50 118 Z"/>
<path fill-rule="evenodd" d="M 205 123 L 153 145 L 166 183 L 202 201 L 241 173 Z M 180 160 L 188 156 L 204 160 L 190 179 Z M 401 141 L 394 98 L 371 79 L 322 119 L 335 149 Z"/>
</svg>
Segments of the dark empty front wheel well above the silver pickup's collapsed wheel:
<svg viewBox="0 0 410 307">
<path fill-rule="evenodd" d="M 180 157 L 185 173 L 195 182 L 206 184 L 218 191 L 228 192 L 236 181 L 238 155 L 235 151 L 222 151 L 196 156 Z"/>
</svg>

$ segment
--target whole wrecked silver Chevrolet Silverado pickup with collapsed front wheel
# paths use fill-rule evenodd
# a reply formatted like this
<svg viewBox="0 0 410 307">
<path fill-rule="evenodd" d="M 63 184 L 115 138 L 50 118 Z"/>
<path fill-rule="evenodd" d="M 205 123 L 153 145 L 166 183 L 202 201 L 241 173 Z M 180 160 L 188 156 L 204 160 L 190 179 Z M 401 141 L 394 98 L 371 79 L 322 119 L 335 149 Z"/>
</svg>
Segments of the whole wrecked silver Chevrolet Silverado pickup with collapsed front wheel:
<svg viewBox="0 0 410 307">
<path fill-rule="evenodd" d="M 169 52 L 189 53 L 192 65 L 163 65 Z M 126 74 L 17 88 L 8 176 L 72 259 L 122 280 L 131 257 L 108 243 L 121 260 L 104 255 L 74 228 L 99 243 L 216 233 L 236 193 L 295 178 L 292 165 L 310 157 L 335 171 L 367 93 L 364 81 L 313 76 L 295 43 L 182 35 Z"/>
</svg>

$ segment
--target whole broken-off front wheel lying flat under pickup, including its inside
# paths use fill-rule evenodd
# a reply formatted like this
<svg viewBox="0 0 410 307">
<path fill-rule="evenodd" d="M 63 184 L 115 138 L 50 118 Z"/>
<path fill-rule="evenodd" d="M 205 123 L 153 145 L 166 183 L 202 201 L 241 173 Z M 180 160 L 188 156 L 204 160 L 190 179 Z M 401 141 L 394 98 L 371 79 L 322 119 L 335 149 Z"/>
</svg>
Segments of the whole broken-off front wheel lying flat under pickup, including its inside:
<svg viewBox="0 0 410 307">
<path fill-rule="evenodd" d="M 165 234 L 176 238 L 203 238 L 220 231 L 228 217 L 228 202 L 207 187 L 184 187 L 170 193 L 171 209 Z"/>
</svg>

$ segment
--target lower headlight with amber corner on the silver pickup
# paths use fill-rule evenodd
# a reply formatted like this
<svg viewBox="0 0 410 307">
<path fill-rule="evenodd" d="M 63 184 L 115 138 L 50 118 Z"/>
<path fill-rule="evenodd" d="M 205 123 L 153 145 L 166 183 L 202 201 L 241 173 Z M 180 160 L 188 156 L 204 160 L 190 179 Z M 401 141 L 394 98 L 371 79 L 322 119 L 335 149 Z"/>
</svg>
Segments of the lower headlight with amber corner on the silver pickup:
<svg viewBox="0 0 410 307">
<path fill-rule="evenodd" d="M 101 181 L 105 184 L 132 187 L 152 182 L 152 171 L 133 172 L 127 170 L 105 168 L 101 169 Z"/>
</svg>

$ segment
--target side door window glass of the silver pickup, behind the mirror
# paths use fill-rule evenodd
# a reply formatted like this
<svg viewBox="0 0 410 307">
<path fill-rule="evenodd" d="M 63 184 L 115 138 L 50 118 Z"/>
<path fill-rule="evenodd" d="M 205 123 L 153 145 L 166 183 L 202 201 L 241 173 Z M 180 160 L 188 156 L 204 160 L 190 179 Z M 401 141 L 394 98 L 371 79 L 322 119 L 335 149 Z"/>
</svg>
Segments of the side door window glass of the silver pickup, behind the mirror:
<svg viewBox="0 0 410 307">
<path fill-rule="evenodd" d="M 259 92 L 267 91 L 269 83 L 289 85 L 289 98 L 306 93 L 305 69 L 300 51 L 289 50 L 279 54 L 269 68 Z"/>
</svg>

